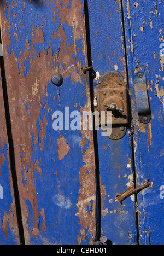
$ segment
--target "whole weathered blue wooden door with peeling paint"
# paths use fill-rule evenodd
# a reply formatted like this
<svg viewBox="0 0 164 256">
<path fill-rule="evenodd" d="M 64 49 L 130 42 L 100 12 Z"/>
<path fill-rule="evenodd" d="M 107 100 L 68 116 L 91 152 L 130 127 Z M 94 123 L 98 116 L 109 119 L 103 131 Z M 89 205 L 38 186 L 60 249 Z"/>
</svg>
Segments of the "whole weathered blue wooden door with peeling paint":
<svg viewBox="0 0 164 256">
<path fill-rule="evenodd" d="M 163 2 L 3 0 L 0 12 L 0 244 L 163 245 Z M 77 119 L 102 107 L 107 75 L 128 92 L 120 138 Z"/>
</svg>

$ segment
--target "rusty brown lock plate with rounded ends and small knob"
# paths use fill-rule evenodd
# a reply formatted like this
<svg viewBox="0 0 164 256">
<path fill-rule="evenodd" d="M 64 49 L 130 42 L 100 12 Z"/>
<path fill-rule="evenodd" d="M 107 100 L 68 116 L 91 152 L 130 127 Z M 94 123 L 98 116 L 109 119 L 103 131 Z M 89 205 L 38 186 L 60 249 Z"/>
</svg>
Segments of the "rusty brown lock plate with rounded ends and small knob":
<svg viewBox="0 0 164 256">
<path fill-rule="evenodd" d="M 119 72 L 107 71 L 103 74 L 98 87 L 99 111 L 112 111 L 113 140 L 125 136 L 128 126 L 127 85 Z"/>
</svg>

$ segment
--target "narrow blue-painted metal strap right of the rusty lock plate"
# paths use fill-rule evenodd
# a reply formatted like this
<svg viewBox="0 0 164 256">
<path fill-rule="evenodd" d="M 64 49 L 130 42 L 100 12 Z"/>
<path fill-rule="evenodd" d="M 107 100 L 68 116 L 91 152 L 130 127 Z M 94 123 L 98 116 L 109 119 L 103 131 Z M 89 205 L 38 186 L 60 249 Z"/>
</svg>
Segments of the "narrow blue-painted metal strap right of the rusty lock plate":
<svg viewBox="0 0 164 256">
<path fill-rule="evenodd" d="M 148 124 L 151 119 L 151 112 L 147 91 L 147 79 L 142 71 L 138 71 L 134 74 L 134 90 L 139 120 L 144 124 Z"/>
</svg>

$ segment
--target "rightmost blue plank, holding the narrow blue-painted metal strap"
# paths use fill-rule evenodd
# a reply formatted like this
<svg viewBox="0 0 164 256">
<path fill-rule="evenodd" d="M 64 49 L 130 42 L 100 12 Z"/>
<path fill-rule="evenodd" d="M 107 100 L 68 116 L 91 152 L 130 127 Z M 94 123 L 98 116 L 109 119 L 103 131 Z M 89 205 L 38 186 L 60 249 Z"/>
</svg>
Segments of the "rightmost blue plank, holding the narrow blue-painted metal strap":
<svg viewBox="0 0 164 256">
<path fill-rule="evenodd" d="M 137 185 L 150 180 L 138 194 L 138 226 L 141 245 L 163 245 L 163 1 L 123 1 L 126 28 L 134 156 Z M 147 77 L 152 119 L 138 121 L 134 73 Z"/>
</svg>

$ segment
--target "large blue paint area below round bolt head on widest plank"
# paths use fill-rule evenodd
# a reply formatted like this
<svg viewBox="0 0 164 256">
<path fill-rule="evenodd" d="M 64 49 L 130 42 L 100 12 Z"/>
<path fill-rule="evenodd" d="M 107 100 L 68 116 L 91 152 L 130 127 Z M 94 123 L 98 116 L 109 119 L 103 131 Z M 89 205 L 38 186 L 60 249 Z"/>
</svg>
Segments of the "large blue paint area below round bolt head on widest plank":
<svg viewBox="0 0 164 256">
<path fill-rule="evenodd" d="M 89 147 L 89 143 L 87 143 L 86 141 L 85 148 L 81 149 L 81 147 L 79 147 L 79 139 L 82 139 L 80 131 L 56 132 L 52 129 L 52 114 L 54 110 L 64 110 L 66 101 L 68 101 L 68 98 L 72 98 L 73 95 L 73 92 L 70 92 L 69 90 L 69 79 L 65 80 L 64 83 L 65 86 L 63 88 L 60 88 L 61 107 L 58 107 L 59 102 L 56 88 L 52 87 L 51 84 L 48 84 L 46 86 L 45 91 L 47 92 L 47 96 L 43 98 L 43 108 L 40 109 L 40 119 L 38 119 L 38 122 L 36 124 L 38 130 L 37 144 L 34 144 L 33 133 L 31 134 L 31 161 L 33 163 L 33 166 L 35 162 L 38 161 L 37 165 L 42 169 L 42 175 L 37 175 L 37 171 L 33 167 L 34 181 L 38 195 L 38 211 L 40 212 L 42 208 L 44 208 L 45 216 L 47 219 L 49 219 L 49 222 L 46 222 L 46 234 L 44 234 L 44 232 L 40 230 L 41 236 L 37 236 L 36 238 L 31 237 L 32 243 L 36 243 L 36 241 L 37 243 L 41 243 L 42 241 L 39 239 L 44 236 L 48 240 L 50 240 L 51 243 L 56 243 L 56 241 L 58 241 L 58 239 L 60 238 L 59 243 L 61 243 L 62 245 L 67 245 L 70 243 L 77 244 L 77 236 L 74 236 L 74 234 L 78 235 L 78 232 L 80 230 L 79 218 L 76 216 L 78 190 L 80 188 L 79 170 L 80 166 L 82 167 L 84 165 L 83 154 L 85 153 L 86 148 Z M 79 89 L 81 90 L 80 95 L 83 95 L 83 88 L 79 86 Z M 72 91 L 73 90 L 75 89 L 72 88 Z M 67 100 L 65 99 L 65 97 L 62 97 L 62 95 L 65 94 L 67 95 Z M 52 101 L 51 95 L 56 95 L 55 101 Z M 77 98 L 75 97 L 74 104 L 76 101 Z M 45 102 L 48 103 L 47 107 L 45 107 Z M 74 104 L 71 103 L 71 110 L 75 110 Z M 51 110 L 48 111 L 48 109 Z M 43 138 L 43 150 L 40 150 L 40 121 L 42 122 L 42 125 L 45 126 L 43 122 L 44 115 L 46 120 L 48 121 L 48 126 L 46 126 L 45 138 Z M 49 136 L 49 134 L 51 136 Z M 67 156 L 65 156 L 65 159 L 60 161 L 58 160 L 57 139 L 60 138 L 62 135 L 65 138 L 68 138 L 66 139 L 66 142 L 69 144 L 69 147 L 71 149 L 69 150 Z M 82 154 L 81 150 L 83 152 Z M 42 162 L 40 161 L 40 159 L 42 159 Z M 72 168 L 74 171 L 72 170 Z M 57 171 L 57 176 L 55 174 L 55 171 Z M 45 181 L 44 185 L 43 181 Z M 67 184 L 67 186 L 65 184 Z M 47 202 L 48 205 L 47 203 L 43 205 L 43 201 Z M 87 211 L 90 212 L 91 210 L 92 201 L 91 208 L 87 209 Z M 57 214 L 58 212 L 60 212 L 59 215 Z M 66 219 L 67 223 L 73 222 L 73 226 L 66 225 Z M 30 222 L 30 219 L 28 220 L 28 222 Z M 65 230 L 65 232 L 67 232 L 66 234 L 72 236 L 71 241 L 68 241 L 68 237 L 63 235 L 62 230 Z M 53 234 L 53 237 L 50 238 L 50 234 Z M 62 235 L 60 236 L 60 234 Z M 88 239 L 85 241 L 85 243 L 89 243 L 89 238 L 90 237 L 88 235 Z"/>
</svg>

